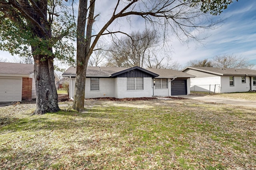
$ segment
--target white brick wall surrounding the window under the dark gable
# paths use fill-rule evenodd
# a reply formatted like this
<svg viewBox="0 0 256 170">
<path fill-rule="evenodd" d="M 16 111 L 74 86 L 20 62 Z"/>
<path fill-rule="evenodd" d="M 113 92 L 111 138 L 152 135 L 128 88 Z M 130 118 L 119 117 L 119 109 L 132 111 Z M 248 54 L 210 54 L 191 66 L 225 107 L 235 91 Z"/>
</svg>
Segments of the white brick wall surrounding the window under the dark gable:
<svg viewBox="0 0 256 170">
<path fill-rule="evenodd" d="M 144 77 L 144 90 L 127 90 L 127 78 L 118 77 L 116 78 L 117 94 L 116 98 L 139 98 L 139 97 L 152 97 L 152 78 Z"/>
</svg>

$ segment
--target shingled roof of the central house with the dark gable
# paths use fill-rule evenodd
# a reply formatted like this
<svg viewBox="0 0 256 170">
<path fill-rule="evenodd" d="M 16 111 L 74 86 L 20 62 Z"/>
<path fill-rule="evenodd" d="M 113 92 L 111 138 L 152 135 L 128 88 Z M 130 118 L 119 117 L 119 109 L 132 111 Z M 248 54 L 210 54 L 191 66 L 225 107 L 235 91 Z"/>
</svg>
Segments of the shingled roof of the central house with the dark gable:
<svg viewBox="0 0 256 170">
<path fill-rule="evenodd" d="M 130 68 L 123 68 L 123 67 L 87 67 L 86 76 L 87 77 L 93 77 L 93 76 L 102 76 L 102 77 L 110 77 L 112 74 L 124 71 Z M 150 72 L 153 72 L 155 74 L 158 74 L 158 78 L 176 78 L 176 77 L 195 77 L 191 74 L 187 74 L 185 72 L 181 72 L 178 70 L 172 70 L 172 69 L 158 69 L 158 68 L 144 68 L 145 70 L 148 70 Z M 63 74 L 62 76 L 76 76 L 76 68 L 73 66 L 70 66 Z"/>
</svg>

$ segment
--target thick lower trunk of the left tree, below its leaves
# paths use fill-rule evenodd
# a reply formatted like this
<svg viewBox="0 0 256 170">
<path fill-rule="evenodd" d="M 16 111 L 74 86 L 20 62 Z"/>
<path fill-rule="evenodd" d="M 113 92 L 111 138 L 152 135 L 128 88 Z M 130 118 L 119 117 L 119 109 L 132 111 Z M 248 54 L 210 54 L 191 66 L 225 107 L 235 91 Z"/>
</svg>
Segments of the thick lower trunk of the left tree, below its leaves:
<svg viewBox="0 0 256 170">
<path fill-rule="evenodd" d="M 54 81 L 53 59 L 41 61 L 34 57 L 34 77 L 36 82 L 36 110 L 34 114 L 44 114 L 60 110 L 58 106 L 58 94 Z"/>
</svg>

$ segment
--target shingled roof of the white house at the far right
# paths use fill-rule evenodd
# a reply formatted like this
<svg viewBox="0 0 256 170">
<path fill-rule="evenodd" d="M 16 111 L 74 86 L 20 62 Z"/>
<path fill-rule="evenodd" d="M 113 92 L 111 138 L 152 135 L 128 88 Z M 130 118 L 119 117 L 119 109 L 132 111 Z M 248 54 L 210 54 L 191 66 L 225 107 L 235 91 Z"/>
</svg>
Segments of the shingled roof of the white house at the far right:
<svg viewBox="0 0 256 170">
<path fill-rule="evenodd" d="M 256 76 L 256 70 L 244 68 L 186 67 L 182 71 L 188 69 L 216 74 L 219 76 Z"/>
</svg>

